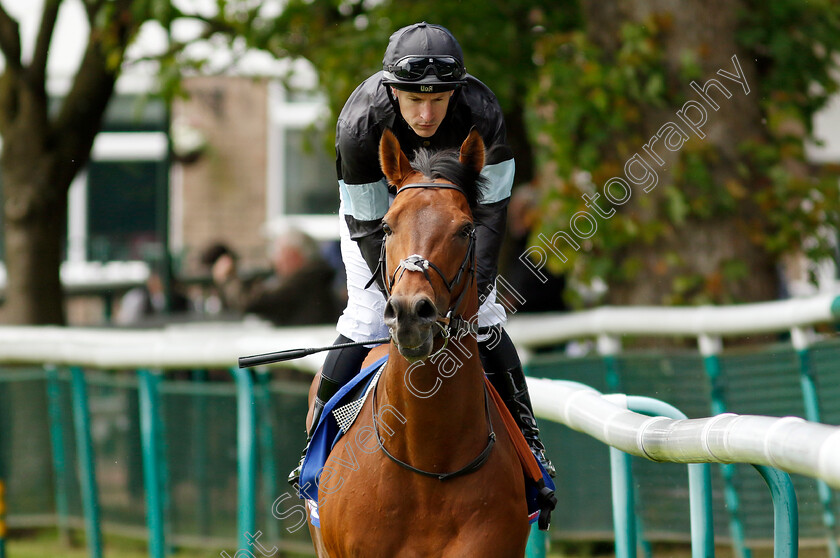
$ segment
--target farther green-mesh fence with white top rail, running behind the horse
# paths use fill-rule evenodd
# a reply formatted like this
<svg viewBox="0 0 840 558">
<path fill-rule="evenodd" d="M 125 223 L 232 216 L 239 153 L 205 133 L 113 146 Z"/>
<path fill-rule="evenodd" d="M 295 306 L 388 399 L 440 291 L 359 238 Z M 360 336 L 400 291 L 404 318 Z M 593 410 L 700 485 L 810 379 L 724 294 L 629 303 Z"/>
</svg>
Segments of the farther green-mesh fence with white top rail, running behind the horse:
<svg viewBox="0 0 840 558">
<path fill-rule="evenodd" d="M 532 353 L 530 376 L 665 400 L 691 417 L 726 411 L 836 424 L 840 342 L 808 330 L 811 323 L 831 324 L 825 300 L 819 302 L 804 303 L 821 308 L 813 315 L 791 321 L 782 309 L 787 321 L 771 324 L 790 332 L 793 341 L 750 349 L 724 350 L 716 337 L 729 331 L 680 332 L 663 326 L 667 320 L 651 323 L 705 336 L 703 352 L 622 352 L 616 329 L 622 324 L 602 320 L 607 327 L 599 329 L 591 316 L 515 318 L 510 331 L 526 351 L 569 339 L 597 340 L 599 352 L 584 357 Z M 769 320 L 758 315 L 764 324 L 759 329 L 766 331 Z M 568 324 L 578 318 L 584 325 Z M 226 548 L 230 556 L 258 544 L 308 552 L 302 507 L 281 480 L 303 444 L 307 376 L 229 366 L 242 355 L 328 344 L 332 335 L 331 328 L 0 328 L 0 479 L 5 465 L 9 522 L 54 525 L 63 534 L 84 530 L 91 556 L 103 552 L 103 529 L 147 538 L 154 557 L 191 545 Z M 297 364 L 311 371 L 320 362 Z M 559 424 L 542 420 L 541 426 L 559 469 L 561 506 L 550 538 L 618 537 L 608 447 Z M 634 492 L 623 506 L 629 510 L 632 502 L 638 544 L 649 552 L 655 541 L 690 542 L 694 514 L 675 511 L 684 511 L 689 500 L 685 468 L 637 459 L 631 468 Z M 779 532 L 760 478 L 745 465 L 711 471 L 717 542 L 733 544 L 744 556 Z M 792 482 L 800 542 L 821 544 L 837 558 L 834 518 L 840 510 L 834 493 L 802 475 L 793 475 Z M 547 541 L 535 533 L 529 556 L 544 555 Z"/>
</svg>

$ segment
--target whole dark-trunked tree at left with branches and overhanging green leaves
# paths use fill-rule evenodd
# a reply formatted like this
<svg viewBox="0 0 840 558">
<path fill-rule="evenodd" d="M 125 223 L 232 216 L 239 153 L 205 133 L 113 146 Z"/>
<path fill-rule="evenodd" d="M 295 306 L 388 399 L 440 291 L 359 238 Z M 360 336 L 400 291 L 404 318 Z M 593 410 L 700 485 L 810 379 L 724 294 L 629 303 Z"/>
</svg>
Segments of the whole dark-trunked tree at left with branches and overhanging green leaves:
<svg viewBox="0 0 840 558">
<path fill-rule="evenodd" d="M 178 93 L 185 68 L 200 69 L 205 62 L 184 55 L 187 43 L 173 36 L 175 22 L 199 22 L 202 30 L 194 39 L 220 45 L 268 48 L 272 43 L 279 49 L 282 37 L 272 27 L 276 2 L 217 0 L 209 11 L 199 11 L 194 2 L 184 3 L 191 7 L 188 12 L 169 0 L 76 1 L 89 24 L 87 46 L 69 91 L 55 100 L 56 108 L 46 90 L 47 61 L 59 10 L 73 0 L 44 0 L 28 60 L 22 56 L 20 25 L 10 15 L 11 2 L 0 2 L 0 52 L 5 60 L 0 75 L 0 173 L 6 323 L 64 322 L 59 265 L 67 193 L 89 160 L 118 77 L 133 62 L 126 52 L 141 27 L 156 25 L 169 38 L 166 48 L 154 55 L 161 68 L 159 93 L 167 97 Z"/>
</svg>

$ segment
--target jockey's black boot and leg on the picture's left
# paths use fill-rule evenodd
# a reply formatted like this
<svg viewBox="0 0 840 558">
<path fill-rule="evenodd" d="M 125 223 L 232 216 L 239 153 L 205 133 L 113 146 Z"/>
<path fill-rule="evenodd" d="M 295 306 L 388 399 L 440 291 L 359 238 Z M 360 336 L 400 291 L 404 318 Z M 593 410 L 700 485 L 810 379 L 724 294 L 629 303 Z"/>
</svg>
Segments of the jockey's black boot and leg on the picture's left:
<svg viewBox="0 0 840 558">
<path fill-rule="evenodd" d="M 333 343 L 339 345 L 342 343 L 349 343 L 351 339 L 339 335 L 338 339 Z M 318 426 L 318 420 L 321 418 L 321 413 L 324 410 L 324 405 L 330 398 L 338 393 L 338 391 L 349 382 L 361 369 L 362 362 L 370 352 L 369 348 L 364 346 L 345 347 L 343 349 L 335 349 L 330 351 L 324 361 L 324 367 L 321 369 L 321 381 L 318 384 L 318 391 L 315 394 L 315 401 L 312 406 L 312 423 L 309 425 L 309 430 L 306 433 L 306 446 L 300 454 L 300 461 L 295 467 L 287 481 L 293 487 L 300 481 L 300 471 L 303 468 L 303 460 L 306 457 L 306 452 L 309 450 L 309 442 L 312 440 L 312 434 L 315 433 L 315 427 Z"/>
</svg>

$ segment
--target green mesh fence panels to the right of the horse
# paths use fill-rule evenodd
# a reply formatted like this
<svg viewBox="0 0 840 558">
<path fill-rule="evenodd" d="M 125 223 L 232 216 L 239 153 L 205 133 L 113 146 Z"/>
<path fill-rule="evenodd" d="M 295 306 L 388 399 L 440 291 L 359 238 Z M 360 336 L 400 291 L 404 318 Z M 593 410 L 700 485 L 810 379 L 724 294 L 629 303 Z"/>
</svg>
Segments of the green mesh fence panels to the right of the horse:
<svg viewBox="0 0 840 558">
<path fill-rule="evenodd" d="M 812 347 L 817 370 L 820 400 L 827 420 L 837 424 L 840 399 L 833 396 L 840 381 L 840 343 L 829 339 Z M 803 416 L 802 395 L 798 387 L 798 369 L 789 344 L 774 344 L 761 349 L 730 350 L 722 355 L 721 375 L 717 387 L 728 394 L 729 411 L 742 414 L 770 416 Z M 624 391 L 667 400 L 692 417 L 714 415 L 712 392 L 703 358 L 696 352 L 674 349 L 661 352 L 622 353 L 615 355 Z M 786 365 L 788 363 L 790 365 Z M 534 377 L 572 380 L 586 383 L 599 391 L 607 388 L 607 367 L 604 359 L 590 356 L 570 359 L 565 355 L 545 354 L 534 357 L 528 372 Z M 558 484 L 559 498 L 565 502 L 604 502 L 610 499 L 609 450 L 600 442 L 569 431 L 561 425 L 541 421 L 541 427 L 553 452 L 561 459 L 554 461 L 561 478 L 573 478 L 574 483 Z M 840 440 L 838 441 L 840 443 Z M 555 449 L 555 448 L 560 448 Z M 567 458 L 566 456 L 575 456 Z M 579 459 L 577 456 L 586 456 Z M 685 472 L 678 465 L 634 460 L 637 482 L 637 517 L 645 525 L 652 540 L 688 540 L 690 526 L 684 511 L 688 494 Z M 731 484 L 726 482 L 726 469 L 733 473 Z M 760 476 L 747 465 L 732 464 L 712 468 L 714 527 L 719 541 L 731 543 L 736 553 L 749 555 L 751 547 L 768 544 L 773 539 L 773 515 L 767 505 L 766 486 Z M 834 556 L 837 530 L 833 518 L 838 513 L 836 496 L 825 483 L 793 476 L 801 503 L 800 531 L 802 544 L 824 546 L 828 556 Z M 824 487 L 824 488 L 820 488 Z M 826 491 L 826 496 L 821 491 Z M 826 504 L 827 502 L 827 504 Z M 735 513 L 733 509 L 738 506 Z M 830 506 L 826 510 L 826 505 Z M 612 521 L 609 509 L 587 505 L 582 508 L 563 507 L 554 514 L 553 536 L 561 539 L 611 537 Z M 644 544 L 640 538 L 640 544 Z"/>
</svg>

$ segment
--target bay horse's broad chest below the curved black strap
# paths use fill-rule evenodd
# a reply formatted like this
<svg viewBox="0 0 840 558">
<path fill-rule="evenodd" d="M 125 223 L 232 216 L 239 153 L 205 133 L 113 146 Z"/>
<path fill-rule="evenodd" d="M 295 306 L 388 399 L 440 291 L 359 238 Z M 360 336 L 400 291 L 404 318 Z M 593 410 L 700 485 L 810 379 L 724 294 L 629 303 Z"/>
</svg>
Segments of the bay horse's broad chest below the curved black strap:
<svg viewBox="0 0 840 558">
<path fill-rule="evenodd" d="M 368 403 L 336 444 L 319 484 L 321 533 L 331 558 L 523 556 L 524 483 L 504 438 L 480 470 L 439 481 L 384 456 L 371 435 Z M 400 421 L 388 419 L 396 429 Z M 387 443 L 389 430 L 380 430 Z"/>
</svg>

